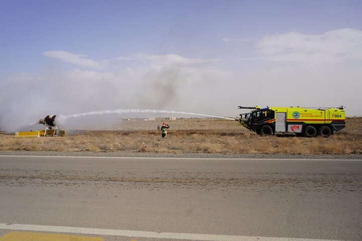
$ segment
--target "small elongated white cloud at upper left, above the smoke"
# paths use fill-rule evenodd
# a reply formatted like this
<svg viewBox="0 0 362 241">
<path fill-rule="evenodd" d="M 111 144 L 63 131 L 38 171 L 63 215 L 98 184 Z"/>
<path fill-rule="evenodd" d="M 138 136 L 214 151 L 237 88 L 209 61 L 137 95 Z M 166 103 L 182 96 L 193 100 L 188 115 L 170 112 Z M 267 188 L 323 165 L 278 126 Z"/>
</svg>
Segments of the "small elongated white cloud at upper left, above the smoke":
<svg viewBox="0 0 362 241">
<path fill-rule="evenodd" d="M 84 67 L 103 68 L 107 65 L 106 60 L 97 62 L 92 59 L 85 58 L 86 55 L 74 54 L 61 50 L 45 51 L 42 54 L 50 58 L 59 59 L 63 62 L 80 65 Z"/>
</svg>

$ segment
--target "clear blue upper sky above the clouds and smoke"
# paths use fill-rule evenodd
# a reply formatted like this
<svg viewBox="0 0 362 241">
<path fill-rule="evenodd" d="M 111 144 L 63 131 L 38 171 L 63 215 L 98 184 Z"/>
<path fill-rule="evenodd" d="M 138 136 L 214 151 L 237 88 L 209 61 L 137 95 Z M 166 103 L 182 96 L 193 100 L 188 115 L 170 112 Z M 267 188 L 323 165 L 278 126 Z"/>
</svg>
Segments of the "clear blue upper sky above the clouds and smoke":
<svg viewBox="0 0 362 241">
<path fill-rule="evenodd" d="M 136 52 L 229 58 L 253 55 L 257 39 L 298 31 L 361 29 L 360 1 L 2 1 L 1 72 L 46 66 L 41 52 L 93 59 Z"/>
</svg>

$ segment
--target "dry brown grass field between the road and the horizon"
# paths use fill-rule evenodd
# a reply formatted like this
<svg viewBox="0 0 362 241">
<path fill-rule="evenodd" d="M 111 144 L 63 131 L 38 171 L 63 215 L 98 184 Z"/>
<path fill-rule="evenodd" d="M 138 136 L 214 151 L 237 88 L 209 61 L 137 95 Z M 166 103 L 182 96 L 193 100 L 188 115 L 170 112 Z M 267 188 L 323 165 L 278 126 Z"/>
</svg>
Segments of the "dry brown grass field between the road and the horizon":
<svg viewBox="0 0 362 241">
<path fill-rule="evenodd" d="M 294 135 L 260 137 L 225 119 L 120 121 L 116 131 L 78 131 L 65 137 L 16 138 L 0 134 L 0 151 L 152 152 L 222 154 L 362 154 L 362 118 L 347 118 L 346 128 L 329 138 Z"/>
</svg>

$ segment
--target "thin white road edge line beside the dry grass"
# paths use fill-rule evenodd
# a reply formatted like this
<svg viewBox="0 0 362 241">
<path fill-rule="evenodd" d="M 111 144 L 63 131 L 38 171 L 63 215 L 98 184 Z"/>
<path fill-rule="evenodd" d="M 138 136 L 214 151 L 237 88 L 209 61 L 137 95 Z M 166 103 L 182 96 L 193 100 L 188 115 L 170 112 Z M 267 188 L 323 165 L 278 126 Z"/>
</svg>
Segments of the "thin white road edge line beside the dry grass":
<svg viewBox="0 0 362 241">
<path fill-rule="evenodd" d="M 168 159 L 168 160 L 291 160 L 291 161 L 362 161 L 362 159 L 299 159 L 299 158 L 188 158 L 188 157 L 95 157 L 95 156 L 20 156 L 0 155 L 1 157 L 25 157 L 25 158 L 102 158 L 102 159 Z"/>
</svg>

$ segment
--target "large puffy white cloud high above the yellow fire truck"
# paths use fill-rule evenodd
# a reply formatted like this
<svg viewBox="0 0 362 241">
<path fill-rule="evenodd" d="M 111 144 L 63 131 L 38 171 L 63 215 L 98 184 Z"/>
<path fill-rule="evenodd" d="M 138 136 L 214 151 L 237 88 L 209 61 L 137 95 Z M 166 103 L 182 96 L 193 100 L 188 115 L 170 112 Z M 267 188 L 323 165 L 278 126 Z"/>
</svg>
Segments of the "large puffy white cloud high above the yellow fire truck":
<svg viewBox="0 0 362 241">
<path fill-rule="evenodd" d="M 257 43 L 257 52 L 270 61 L 333 63 L 362 60 L 362 31 L 338 29 L 322 34 L 297 32 L 267 35 Z"/>
</svg>

